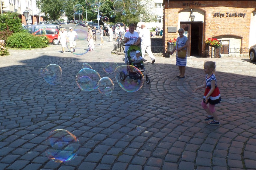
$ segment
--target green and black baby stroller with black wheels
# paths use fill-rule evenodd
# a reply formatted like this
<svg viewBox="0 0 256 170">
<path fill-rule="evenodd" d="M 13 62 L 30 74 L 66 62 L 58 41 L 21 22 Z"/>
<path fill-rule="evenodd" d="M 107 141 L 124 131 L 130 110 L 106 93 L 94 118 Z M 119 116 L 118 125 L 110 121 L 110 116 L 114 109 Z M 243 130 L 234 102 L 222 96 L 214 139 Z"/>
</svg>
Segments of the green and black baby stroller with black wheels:
<svg viewBox="0 0 256 170">
<path fill-rule="evenodd" d="M 127 45 L 123 45 L 123 50 L 124 50 L 124 46 L 130 46 L 130 47 L 124 53 L 123 61 L 127 65 L 134 66 L 133 62 L 131 61 L 131 56 L 135 56 L 137 50 L 140 51 L 140 54 L 142 56 L 141 49 L 137 45 L 127 44 Z M 143 64 L 143 61 L 140 61 L 140 63 Z M 146 70 L 145 67 L 144 67 L 144 69 L 140 69 L 141 72 L 144 72 L 145 70 Z M 124 81 L 126 77 L 129 77 L 129 78 L 132 78 L 133 80 L 136 80 L 137 83 L 140 83 L 140 80 L 142 79 L 143 76 L 144 76 L 143 74 L 141 75 L 141 74 L 138 74 L 137 72 L 131 72 L 131 69 L 128 66 L 127 66 L 126 73 L 124 71 L 120 72 L 121 81 Z M 149 79 L 148 75 L 145 75 L 145 77 L 146 77 L 146 83 L 150 84 L 150 79 Z"/>
</svg>

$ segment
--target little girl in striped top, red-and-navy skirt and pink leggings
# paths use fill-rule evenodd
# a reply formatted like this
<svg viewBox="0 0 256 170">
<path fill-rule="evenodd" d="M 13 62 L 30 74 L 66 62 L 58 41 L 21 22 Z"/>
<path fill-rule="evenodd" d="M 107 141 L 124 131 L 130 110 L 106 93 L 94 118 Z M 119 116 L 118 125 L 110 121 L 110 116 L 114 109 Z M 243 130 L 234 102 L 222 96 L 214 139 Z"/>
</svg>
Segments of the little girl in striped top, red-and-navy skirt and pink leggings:
<svg viewBox="0 0 256 170">
<path fill-rule="evenodd" d="M 208 117 L 204 120 L 212 120 L 211 122 L 208 122 L 209 125 L 219 125 L 220 122 L 218 121 L 218 115 L 214 108 L 215 104 L 218 104 L 221 101 L 221 94 L 217 86 L 217 79 L 214 75 L 216 65 L 213 61 L 206 61 L 203 66 L 203 70 L 206 73 L 205 84 L 194 87 L 193 92 L 196 92 L 198 89 L 206 88 L 203 101 L 201 103 L 203 109 L 208 113 Z M 208 103 L 209 107 L 207 107 Z"/>
</svg>

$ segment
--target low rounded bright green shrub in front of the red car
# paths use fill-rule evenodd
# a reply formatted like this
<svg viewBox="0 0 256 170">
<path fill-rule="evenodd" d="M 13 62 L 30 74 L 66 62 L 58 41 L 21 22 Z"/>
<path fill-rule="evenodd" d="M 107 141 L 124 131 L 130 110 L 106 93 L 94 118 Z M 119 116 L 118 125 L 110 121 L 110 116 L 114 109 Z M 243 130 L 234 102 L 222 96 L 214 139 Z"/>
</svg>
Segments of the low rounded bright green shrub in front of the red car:
<svg viewBox="0 0 256 170">
<path fill-rule="evenodd" d="M 34 36 L 30 33 L 13 33 L 6 44 L 11 48 L 43 48 L 47 44 L 43 38 Z"/>
</svg>

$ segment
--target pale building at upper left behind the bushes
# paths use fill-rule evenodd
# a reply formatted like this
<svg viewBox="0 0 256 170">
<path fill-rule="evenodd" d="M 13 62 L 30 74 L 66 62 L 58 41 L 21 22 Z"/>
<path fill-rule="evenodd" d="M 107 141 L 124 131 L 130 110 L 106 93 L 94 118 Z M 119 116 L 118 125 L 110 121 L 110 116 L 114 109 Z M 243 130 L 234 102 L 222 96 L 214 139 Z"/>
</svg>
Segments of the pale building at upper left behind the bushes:
<svg viewBox="0 0 256 170">
<path fill-rule="evenodd" d="M 3 13 L 5 12 L 16 12 L 19 14 L 20 19 L 26 25 L 26 19 L 23 15 L 25 10 L 29 11 L 29 20 L 28 23 L 34 24 L 34 22 L 39 22 L 39 10 L 36 7 L 35 0 L 2 0 L 3 5 Z M 40 13 L 40 21 L 42 21 L 42 16 L 44 14 Z"/>
</svg>

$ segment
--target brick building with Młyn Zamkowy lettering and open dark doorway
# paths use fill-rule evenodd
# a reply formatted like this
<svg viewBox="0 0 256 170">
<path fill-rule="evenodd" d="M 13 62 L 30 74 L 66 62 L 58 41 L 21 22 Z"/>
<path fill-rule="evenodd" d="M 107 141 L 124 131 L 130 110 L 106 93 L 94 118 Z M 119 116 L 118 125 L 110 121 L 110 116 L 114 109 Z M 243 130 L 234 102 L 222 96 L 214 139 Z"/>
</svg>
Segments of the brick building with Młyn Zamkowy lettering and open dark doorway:
<svg viewBox="0 0 256 170">
<path fill-rule="evenodd" d="M 192 56 L 204 55 L 208 38 L 222 40 L 227 49 L 256 44 L 255 0 L 164 0 L 163 4 L 165 47 L 168 40 L 178 37 L 181 27 L 190 41 L 188 54 Z"/>
</svg>

